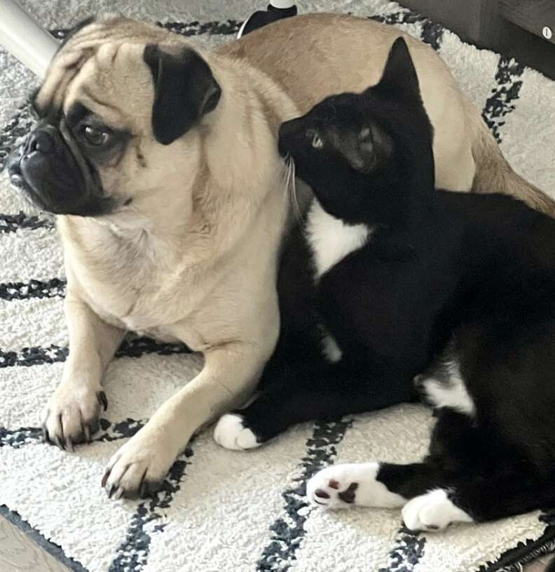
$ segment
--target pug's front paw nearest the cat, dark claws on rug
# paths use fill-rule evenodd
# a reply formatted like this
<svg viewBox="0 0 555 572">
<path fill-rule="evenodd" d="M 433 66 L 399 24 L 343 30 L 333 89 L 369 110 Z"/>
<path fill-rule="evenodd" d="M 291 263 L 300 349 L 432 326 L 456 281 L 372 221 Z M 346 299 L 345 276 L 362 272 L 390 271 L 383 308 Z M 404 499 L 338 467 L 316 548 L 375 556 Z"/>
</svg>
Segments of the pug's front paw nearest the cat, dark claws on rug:
<svg viewBox="0 0 555 572">
<path fill-rule="evenodd" d="M 109 460 L 102 486 L 109 498 L 136 498 L 160 490 L 178 452 L 172 447 L 139 431 L 121 446 Z"/>
</svg>

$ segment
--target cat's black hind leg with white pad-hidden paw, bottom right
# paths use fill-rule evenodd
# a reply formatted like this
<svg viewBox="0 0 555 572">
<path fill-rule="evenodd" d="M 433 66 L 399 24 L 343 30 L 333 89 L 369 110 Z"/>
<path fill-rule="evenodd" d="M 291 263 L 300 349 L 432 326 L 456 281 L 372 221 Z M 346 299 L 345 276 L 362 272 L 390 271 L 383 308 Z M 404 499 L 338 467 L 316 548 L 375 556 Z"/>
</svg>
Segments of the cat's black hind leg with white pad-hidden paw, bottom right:
<svg viewBox="0 0 555 572">
<path fill-rule="evenodd" d="M 495 427 L 477 423 L 467 413 L 439 410 L 429 459 L 443 467 L 444 478 L 404 505 L 403 519 L 412 530 L 493 521 L 555 506 L 555 472 L 538 472 Z"/>
</svg>

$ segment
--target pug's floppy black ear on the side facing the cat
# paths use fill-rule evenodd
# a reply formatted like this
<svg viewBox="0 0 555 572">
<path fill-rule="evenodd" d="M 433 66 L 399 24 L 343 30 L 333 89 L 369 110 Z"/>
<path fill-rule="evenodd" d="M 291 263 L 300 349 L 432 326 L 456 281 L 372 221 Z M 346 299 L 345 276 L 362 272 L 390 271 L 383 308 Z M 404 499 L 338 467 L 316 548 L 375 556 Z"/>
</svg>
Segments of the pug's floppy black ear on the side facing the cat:
<svg viewBox="0 0 555 572">
<path fill-rule="evenodd" d="M 170 145 L 217 106 L 221 88 L 205 60 L 190 48 L 170 54 L 148 44 L 143 60 L 154 81 L 152 131 L 158 142 Z"/>
</svg>

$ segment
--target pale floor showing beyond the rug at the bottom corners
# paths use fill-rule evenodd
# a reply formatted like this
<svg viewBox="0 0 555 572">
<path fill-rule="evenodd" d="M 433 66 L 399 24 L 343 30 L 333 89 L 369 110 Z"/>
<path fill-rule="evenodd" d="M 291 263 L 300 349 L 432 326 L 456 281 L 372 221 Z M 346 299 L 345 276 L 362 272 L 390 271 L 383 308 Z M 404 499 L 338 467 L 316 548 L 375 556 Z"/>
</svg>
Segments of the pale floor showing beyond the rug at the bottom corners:
<svg viewBox="0 0 555 572">
<path fill-rule="evenodd" d="M 528 564 L 523 572 L 543 572 L 551 557 Z M 17 526 L 0 517 L 0 572 L 68 572 L 69 568 L 50 556 Z"/>
</svg>

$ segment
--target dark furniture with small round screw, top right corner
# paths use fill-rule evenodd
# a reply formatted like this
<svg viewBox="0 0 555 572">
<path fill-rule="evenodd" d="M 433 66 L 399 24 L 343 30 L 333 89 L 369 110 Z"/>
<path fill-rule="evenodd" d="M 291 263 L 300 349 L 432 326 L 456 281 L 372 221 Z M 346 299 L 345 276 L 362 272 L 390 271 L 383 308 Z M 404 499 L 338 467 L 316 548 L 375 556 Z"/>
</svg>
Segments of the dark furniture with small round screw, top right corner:
<svg viewBox="0 0 555 572">
<path fill-rule="evenodd" d="M 555 79 L 555 3 L 551 0 L 404 0 L 462 40 L 519 60 Z M 545 28 L 549 30 L 545 30 Z"/>
</svg>

